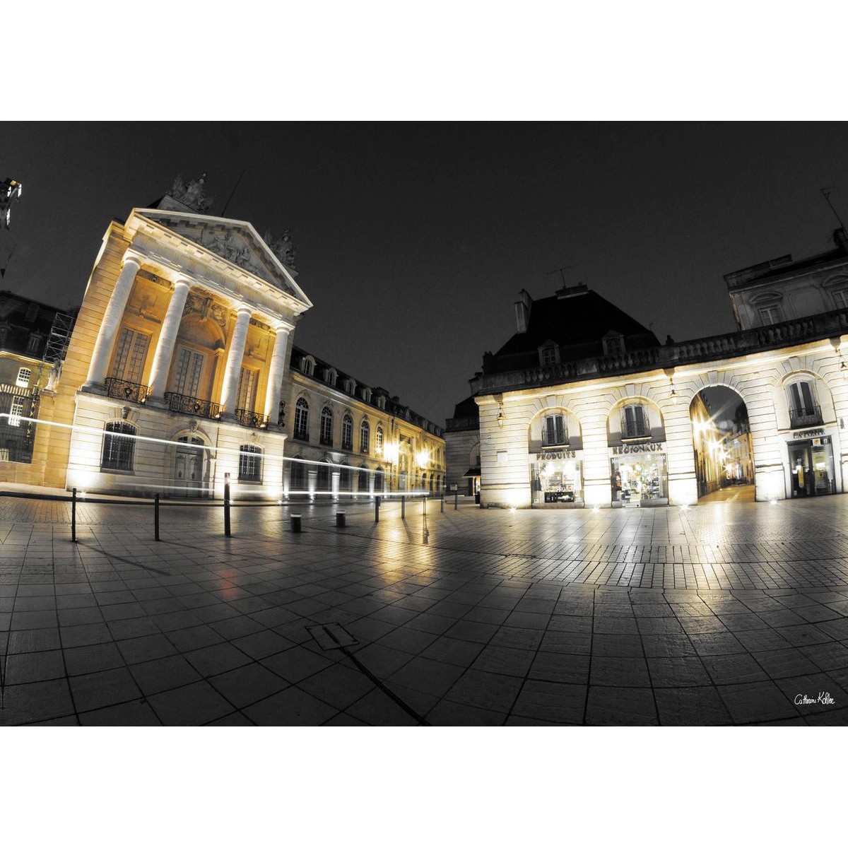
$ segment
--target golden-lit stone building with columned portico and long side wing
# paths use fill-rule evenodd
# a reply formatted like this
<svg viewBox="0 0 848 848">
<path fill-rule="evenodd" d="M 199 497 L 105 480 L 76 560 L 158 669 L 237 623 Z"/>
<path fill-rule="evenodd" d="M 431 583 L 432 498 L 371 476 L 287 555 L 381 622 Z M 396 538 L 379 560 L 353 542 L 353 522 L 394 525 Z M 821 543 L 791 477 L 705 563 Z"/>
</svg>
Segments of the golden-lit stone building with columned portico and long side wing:
<svg viewBox="0 0 848 848">
<path fill-rule="evenodd" d="M 437 428 L 410 410 L 393 427 L 399 404 L 383 415 L 361 387 L 357 395 L 306 385 L 315 378 L 299 370 L 299 352 L 298 371 L 290 369 L 294 328 L 312 304 L 295 282 L 288 239 L 209 215 L 210 204 L 203 179 L 177 180 L 153 208 L 110 224 L 64 362 L 42 391 L 47 424 L 33 449 L 40 482 L 206 497 L 220 496 L 228 478 L 241 496 L 279 498 L 362 490 L 362 480 L 371 494 L 377 483 L 397 485 L 390 454 L 399 443 L 404 455 L 404 439 L 416 464 L 401 482 L 416 488 L 424 474 L 435 485 L 438 471 L 444 480 Z M 319 429 L 304 439 L 296 410 L 307 398 L 310 427 Z M 325 407 L 330 444 L 321 443 Z M 354 417 L 358 439 L 366 425 L 383 427 L 379 452 L 361 441 L 353 449 L 346 427 Z M 344 466 L 354 467 L 354 455 L 348 488 Z M 304 487 L 293 486 L 301 477 Z"/>
</svg>

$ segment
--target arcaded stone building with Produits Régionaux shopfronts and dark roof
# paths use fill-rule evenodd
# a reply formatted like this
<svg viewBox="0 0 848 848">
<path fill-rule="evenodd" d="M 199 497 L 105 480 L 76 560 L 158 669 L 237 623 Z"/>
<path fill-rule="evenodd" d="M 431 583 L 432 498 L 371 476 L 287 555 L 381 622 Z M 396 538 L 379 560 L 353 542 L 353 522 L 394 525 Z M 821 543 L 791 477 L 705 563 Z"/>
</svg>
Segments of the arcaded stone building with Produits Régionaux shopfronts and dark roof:
<svg viewBox="0 0 848 848">
<path fill-rule="evenodd" d="M 650 343 L 633 325 L 622 332 L 619 316 L 585 287 L 537 304 L 522 292 L 516 336 L 487 354 L 471 381 L 482 505 L 695 504 L 713 488 L 696 463 L 714 429 L 699 396 L 715 387 L 745 405 L 747 429 L 734 441 L 750 444 L 750 469 L 740 471 L 745 459 L 732 451 L 724 460 L 728 475 L 731 465 L 737 476 L 752 474 L 757 500 L 845 492 L 845 233 L 834 243 L 820 257 L 782 257 L 728 275 L 739 331 L 683 343 Z M 539 307 L 548 314 L 534 330 Z M 562 321 L 551 317 L 558 312 Z M 577 355 L 548 338 L 558 323 L 590 321 L 594 342 L 583 339 Z"/>
</svg>

